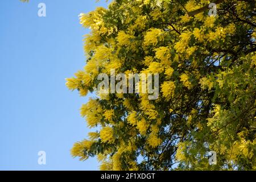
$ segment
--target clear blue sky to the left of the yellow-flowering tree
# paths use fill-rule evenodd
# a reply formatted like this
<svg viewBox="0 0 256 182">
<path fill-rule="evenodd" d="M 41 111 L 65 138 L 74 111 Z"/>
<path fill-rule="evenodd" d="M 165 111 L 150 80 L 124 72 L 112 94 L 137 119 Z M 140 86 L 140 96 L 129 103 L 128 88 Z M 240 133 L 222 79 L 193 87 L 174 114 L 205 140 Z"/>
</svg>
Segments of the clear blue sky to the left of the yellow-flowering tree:
<svg viewBox="0 0 256 182">
<path fill-rule="evenodd" d="M 47 17 L 38 16 L 46 3 Z M 65 87 L 85 56 L 78 15 L 106 2 L 19 0 L 0 5 L 0 170 L 97 170 L 96 159 L 80 162 L 69 150 L 86 138 L 79 109 L 88 101 Z M 38 151 L 46 151 L 46 166 Z"/>
</svg>

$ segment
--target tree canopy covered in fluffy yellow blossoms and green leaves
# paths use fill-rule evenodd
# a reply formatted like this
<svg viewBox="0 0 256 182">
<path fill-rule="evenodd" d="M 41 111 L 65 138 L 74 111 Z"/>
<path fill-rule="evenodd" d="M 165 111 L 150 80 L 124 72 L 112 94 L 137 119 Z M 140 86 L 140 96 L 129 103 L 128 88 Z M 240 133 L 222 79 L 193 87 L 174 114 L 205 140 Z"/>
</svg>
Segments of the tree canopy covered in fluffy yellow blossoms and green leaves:
<svg viewBox="0 0 256 182">
<path fill-rule="evenodd" d="M 114 0 L 80 15 L 86 65 L 67 78 L 95 97 L 74 157 L 102 170 L 256 169 L 255 1 Z M 97 76 L 159 73 L 159 97 L 99 93 Z M 217 164 L 210 165 L 208 152 Z"/>
</svg>

